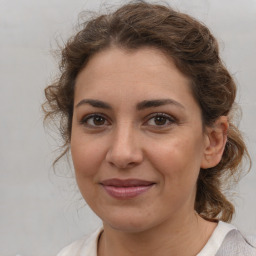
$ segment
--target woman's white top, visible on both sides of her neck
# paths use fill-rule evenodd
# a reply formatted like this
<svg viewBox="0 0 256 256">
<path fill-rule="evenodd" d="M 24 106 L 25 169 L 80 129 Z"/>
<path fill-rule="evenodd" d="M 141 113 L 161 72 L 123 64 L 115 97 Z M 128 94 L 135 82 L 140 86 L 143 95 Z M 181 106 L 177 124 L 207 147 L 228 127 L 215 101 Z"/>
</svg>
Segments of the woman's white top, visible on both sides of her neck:
<svg viewBox="0 0 256 256">
<path fill-rule="evenodd" d="M 83 239 L 65 247 L 57 256 L 97 256 L 97 243 L 102 230 L 103 228 L 101 227 L 91 235 L 86 236 Z M 239 236 L 239 239 L 242 241 L 240 241 L 242 244 L 239 248 L 233 248 L 236 247 L 238 241 L 237 239 L 234 240 L 234 235 Z M 234 226 L 219 221 L 210 239 L 201 250 L 201 252 L 197 254 L 197 256 L 215 255 L 256 256 L 256 249 L 249 243 L 247 244 L 247 241 L 244 240 L 244 238 L 240 235 L 240 232 Z"/>
</svg>

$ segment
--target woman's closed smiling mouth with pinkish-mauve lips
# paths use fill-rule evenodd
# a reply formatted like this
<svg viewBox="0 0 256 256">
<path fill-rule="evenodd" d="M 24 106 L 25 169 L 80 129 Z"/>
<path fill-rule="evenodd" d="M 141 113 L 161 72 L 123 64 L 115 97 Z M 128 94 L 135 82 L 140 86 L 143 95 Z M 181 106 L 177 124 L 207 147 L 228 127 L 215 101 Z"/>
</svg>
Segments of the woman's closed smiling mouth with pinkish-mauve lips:
<svg viewBox="0 0 256 256">
<path fill-rule="evenodd" d="M 155 183 L 138 179 L 109 179 L 102 181 L 100 185 L 111 197 L 125 200 L 147 192 Z"/>
</svg>

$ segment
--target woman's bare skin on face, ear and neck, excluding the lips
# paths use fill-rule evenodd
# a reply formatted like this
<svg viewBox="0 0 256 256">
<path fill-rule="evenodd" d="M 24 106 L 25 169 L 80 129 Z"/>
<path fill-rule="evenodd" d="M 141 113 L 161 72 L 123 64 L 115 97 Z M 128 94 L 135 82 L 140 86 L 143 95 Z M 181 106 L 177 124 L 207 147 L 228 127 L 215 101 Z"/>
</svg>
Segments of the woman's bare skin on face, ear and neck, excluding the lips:
<svg viewBox="0 0 256 256">
<path fill-rule="evenodd" d="M 221 117 L 203 130 L 189 79 L 161 51 L 94 55 L 76 80 L 71 153 L 81 194 L 103 221 L 98 255 L 196 255 L 216 227 L 194 211 L 197 177 L 220 161 L 227 127 Z M 118 200 L 100 184 L 112 178 L 154 185 Z"/>
</svg>

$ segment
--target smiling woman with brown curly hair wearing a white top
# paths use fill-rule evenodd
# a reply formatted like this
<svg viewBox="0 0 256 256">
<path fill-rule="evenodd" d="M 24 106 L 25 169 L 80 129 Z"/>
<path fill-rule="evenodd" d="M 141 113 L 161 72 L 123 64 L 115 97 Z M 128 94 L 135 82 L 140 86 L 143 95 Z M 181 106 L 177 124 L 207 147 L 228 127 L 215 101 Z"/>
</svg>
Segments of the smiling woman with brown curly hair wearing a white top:
<svg viewBox="0 0 256 256">
<path fill-rule="evenodd" d="M 45 94 L 103 222 L 59 256 L 256 255 L 226 223 L 223 185 L 248 153 L 231 118 L 235 83 L 204 25 L 144 2 L 93 18 Z"/>
</svg>

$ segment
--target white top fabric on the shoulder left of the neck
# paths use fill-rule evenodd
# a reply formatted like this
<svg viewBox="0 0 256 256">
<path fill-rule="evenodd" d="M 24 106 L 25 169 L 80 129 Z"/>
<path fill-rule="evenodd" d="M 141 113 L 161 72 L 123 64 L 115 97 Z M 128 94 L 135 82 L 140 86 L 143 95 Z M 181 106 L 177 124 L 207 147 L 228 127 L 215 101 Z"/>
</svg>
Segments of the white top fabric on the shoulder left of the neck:
<svg viewBox="0 0 256 256">
<path fill-rule="evenodd" d="M 97 243 L 101 232 L 102 228 L 98 228 L 92 234 L 63 248 L 57 256 L 97 256 Z"/>
</svg>

